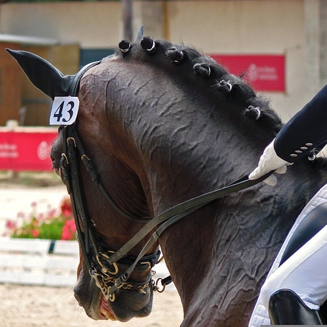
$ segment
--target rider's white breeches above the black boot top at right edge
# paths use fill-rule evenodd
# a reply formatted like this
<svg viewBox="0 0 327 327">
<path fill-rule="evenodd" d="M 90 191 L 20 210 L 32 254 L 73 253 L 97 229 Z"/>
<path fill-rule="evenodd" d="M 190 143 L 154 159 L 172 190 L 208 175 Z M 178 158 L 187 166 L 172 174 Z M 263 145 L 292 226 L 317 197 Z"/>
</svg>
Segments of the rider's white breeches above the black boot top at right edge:
<svg viewBox="0 0 327 327">
<path fill-rule="evenodd" d="M 275 291 L 291 289 L 304 303 L 318 309 L 327 299 L 327 226 L 297 250 L 273 272 L 261 289 L 262 304 L 268 310 Z"/>
</svg>

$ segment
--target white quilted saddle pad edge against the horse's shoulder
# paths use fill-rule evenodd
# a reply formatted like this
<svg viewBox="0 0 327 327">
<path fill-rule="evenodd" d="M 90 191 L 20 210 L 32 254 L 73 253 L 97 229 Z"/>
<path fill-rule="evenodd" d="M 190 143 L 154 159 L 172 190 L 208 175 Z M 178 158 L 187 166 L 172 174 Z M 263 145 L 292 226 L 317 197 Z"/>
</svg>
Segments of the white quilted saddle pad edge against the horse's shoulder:
<svg viewBox="0 0 327 327">
<path fill-rule="evenodd" d="M 286 245 L 289 243 L 289 239 L 293 235 L 295 229 L 300 224 L 302 219 L 309 212 L 311 212 L 311 210 L 313 210 L 314 207 L 317 207 L 317 205 L 321 205 L 322 203 L 326 203 L 326 202 L 327 202 L 327 185 L 325 185 L 321 190 L 319 190 L 315 194 L 315 196 L 313 196 L 313 199 L 311 199 L 308 202 L 308 204 L 302 210 L 300 216 L 297 217 L 295 224 L 293 225 L 291 231 L 289 232 L 289 235 L 286 237 L 284 244 L 282 245 L 277 257 L 275 258 L 275 261 L 273 262 L 273 265 L 272 265 L 268 275 L 271 275 L 271 273 L 273 273 L 273 271 L 275 271 L 279 267 L 280 259 L 282 258 L 282 255 L 284 253 Z M 251 319 L 249 321 L 249 327 L 260 327 L 261 325 L 270 325 L 270 319 L 269 319 L 268 311 L 262 305 L 262 302 L 261 302 L 261 299 L 259 296 L 256 306 L 253 309 Z"/>
</svg>

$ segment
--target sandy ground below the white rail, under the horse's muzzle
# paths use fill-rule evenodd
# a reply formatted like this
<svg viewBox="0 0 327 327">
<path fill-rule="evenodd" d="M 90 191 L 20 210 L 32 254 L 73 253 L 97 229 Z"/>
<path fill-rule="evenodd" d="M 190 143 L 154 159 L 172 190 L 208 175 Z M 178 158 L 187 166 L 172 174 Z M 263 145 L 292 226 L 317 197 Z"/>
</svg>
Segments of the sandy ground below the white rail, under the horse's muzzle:
<svg viewBox="0 0 327 327">
<path fill-rule="evenodd" d="M 176 291 L 156 293 L 149 317 L 129 322 L 87 317 L 69 287 L 0 284 L 1 327 L 177 327 L 183 314 Z"/>
</svg>

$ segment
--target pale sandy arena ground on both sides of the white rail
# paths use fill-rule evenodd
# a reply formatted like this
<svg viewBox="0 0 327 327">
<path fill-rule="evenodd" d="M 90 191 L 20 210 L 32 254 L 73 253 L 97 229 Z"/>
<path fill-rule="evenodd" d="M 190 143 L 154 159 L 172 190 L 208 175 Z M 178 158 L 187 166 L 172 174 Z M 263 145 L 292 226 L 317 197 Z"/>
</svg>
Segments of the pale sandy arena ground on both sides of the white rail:
<svg viewBox="0 0 327 327">
<path fill-rule="evenodd" d="M 34 187 L 0 181 L 0 235 L 8 218 L 16 218 L 18 212 L 31 212 L 33 201 L 42 211 L 48 205 L 56 207 L 65 194 L 59 183 Z M 177 327 L 182 319 L 181 303 L 174 289 L 155 293 L 149 317 L 120 323 L 96 322 L 87 317 L 74 299 L 71 287 L 0 284 L 1 327 Z"/>
</svg>

